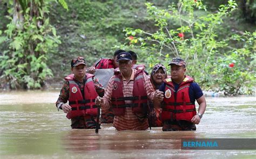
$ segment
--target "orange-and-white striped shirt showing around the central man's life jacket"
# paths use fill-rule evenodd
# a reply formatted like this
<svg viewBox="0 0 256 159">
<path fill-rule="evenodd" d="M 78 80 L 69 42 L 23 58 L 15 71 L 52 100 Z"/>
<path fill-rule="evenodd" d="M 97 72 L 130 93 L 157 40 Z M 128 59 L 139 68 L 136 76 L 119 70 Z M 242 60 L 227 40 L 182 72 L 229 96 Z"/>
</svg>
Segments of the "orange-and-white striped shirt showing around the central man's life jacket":
<svg viewBox="0 0 256 159">
<path fill-rule="evenodd" d="M 134 84 L 134 77 L 137 73 L 136 69 L 132 69 L 132 75 L 130 79 L 127 81 L 123 76 L 123 94 L 124 97 L 133 97 L 133 84 Z M 110 79 L 109 84 L 107 85 L 107 88 L 105 90 L 105 94 L 103 97 L 103 104 L 102 104 L 102 110 L 107 110 L 111 107 L 111 98 L 112 98 L 112 89 L 114 89 L 114 78 L 116 76 L 113 76 Z M 153 100 L 154 97 L 154 90 L 152 88 L 152 85 L 149 81 L 149 78 L 147 78 L 146 74 L 143 73 L 143 84 L 145 91 L 147 93 L 147 98 L 150 100 Z M 125 100 L 125 104 L 131 104 L 132 100 Z M 122 130 L 145 130 L 149 128 L 149 124 L 146 118 L 140 118 L 143 117 L 144 114 L 134 114 L 132 112 L 131 107 L 125 108 L 125 114 L 120 116 L 115 116 L 113 125 L 116 127 L 118 131 Z"/>
</svg>

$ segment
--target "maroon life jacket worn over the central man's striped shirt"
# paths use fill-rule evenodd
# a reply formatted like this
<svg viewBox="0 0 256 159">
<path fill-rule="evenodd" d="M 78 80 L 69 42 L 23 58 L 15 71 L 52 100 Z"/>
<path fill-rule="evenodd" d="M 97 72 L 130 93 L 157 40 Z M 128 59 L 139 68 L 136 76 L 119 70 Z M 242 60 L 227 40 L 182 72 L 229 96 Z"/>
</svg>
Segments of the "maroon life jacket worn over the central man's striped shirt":
<svg viewBox="0 0 256 159">
<path fill-rule="evenodd" d="M 133 97 L 124 97 L 123 79 L 116 73 L 112 87 L 112 108 L 114 115 L 124 115 L 126 107 L 132 107 L 133 113 L 146 113 L 147 93 L 144 88 L 143 69 L 139 69 L 134 76 Z M 125 104 L 125 100 L 132 100 L 132 104 Z"/>
</svg>

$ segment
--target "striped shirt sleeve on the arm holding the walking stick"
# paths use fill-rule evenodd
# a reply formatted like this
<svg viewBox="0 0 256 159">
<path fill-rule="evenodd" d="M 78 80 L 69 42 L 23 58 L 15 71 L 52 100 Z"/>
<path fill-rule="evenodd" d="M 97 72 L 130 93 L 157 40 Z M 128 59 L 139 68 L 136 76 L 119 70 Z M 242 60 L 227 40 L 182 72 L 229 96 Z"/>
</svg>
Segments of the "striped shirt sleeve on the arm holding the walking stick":
<svg viewBox="0 0 256 159">
<path fill-rule="evenodd" d="M 111 106 L 111 97 L 112 97 L 112 85 L 114 83 L 114 76 L 110 78 L 109 83 L 107 84 L 104 96 L 103 96 L 103 104 L 101 106 L 102 110 L 108 110 Z"/>
</svg>

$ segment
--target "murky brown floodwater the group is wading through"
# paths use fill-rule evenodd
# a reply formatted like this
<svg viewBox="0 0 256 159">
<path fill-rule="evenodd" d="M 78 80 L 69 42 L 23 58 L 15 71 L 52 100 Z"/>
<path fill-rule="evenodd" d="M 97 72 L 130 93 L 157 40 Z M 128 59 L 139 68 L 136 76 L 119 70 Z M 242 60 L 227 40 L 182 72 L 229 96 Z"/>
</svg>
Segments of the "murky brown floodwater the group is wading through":
<svg viewBox="0 0 256 159">
<path fill-rule="evenodd" d="M 256 98 L 206 98 L 197 131 L 71 129 L 58 91 L 0 92 L 0 158 L 255 158 L 256 150 L 181 150 L 181 139 L 256 138 Z"/>
</svg>

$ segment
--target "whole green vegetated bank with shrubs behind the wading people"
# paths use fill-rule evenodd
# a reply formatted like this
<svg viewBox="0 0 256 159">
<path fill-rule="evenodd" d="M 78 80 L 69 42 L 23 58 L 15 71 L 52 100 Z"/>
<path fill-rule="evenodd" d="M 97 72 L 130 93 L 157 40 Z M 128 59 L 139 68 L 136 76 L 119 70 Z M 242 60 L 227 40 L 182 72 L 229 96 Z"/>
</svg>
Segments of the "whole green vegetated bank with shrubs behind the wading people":
<svg viewBox="0 0 256 159">
<path fill-rule="evenodd" d="M 150 2 L 150 3 L 148 3 Z M 70 60 L 91 66 L 133 50 L 150 71 L 181 56 L 204 90 L 255 91 L 256 1 L 0 1 L 2 88 L 62 83 Z"/>
</svg>

